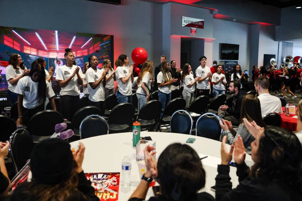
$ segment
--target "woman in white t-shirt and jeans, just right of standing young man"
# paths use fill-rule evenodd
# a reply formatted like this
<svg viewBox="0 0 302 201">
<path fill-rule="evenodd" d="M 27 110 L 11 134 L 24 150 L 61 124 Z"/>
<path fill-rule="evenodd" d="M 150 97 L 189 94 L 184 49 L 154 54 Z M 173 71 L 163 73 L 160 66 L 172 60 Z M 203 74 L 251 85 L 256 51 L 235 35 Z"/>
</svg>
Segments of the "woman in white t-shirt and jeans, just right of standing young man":
<svg viewBox="0 0 302 201">
<path fill-rule="evenodd" d="M 222 74 L 222 66 L 218 65 L 216 68 L 216 73 L 212 75 L 213 82 L 213 96 L 218 96 L 219 94 L 226 94 L 226 76 Z"/>
</svg>

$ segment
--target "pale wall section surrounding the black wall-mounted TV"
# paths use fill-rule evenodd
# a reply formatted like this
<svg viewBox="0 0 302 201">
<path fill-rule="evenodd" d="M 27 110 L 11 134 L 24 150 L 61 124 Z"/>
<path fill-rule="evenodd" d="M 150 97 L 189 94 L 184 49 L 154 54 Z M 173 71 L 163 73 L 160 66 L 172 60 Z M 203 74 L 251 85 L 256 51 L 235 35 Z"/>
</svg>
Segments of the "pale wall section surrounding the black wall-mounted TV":
<svg viewBox="0 0 302 201">
<path fill-rule="evenodd" d="M 249 26 L 247 24 L 230 22 L 214 19 L 213 30 L 213 60 L 220 60 L 220 43 L 230 43 L 239 45 L 238 63 L 243 70 L 249 69 L 250 63 L 250 45 L 249 45 Z M 218 62 L 219 63 L 219 62 Z M 211 64 L 208 63 L 208 66 Z"/>
</svg>

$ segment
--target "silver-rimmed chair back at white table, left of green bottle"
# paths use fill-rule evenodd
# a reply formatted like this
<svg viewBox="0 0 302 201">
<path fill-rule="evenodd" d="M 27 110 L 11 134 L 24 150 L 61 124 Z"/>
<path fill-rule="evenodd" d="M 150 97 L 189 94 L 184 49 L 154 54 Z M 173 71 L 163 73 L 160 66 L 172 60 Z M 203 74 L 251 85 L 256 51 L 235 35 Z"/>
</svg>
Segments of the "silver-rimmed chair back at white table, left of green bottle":
<svg viewBox="0 0 302 201">
<path fill-rule="evenodd" d="M 80 139 L 105 135 L 109 132 L 109 126 L 104 117 L 100 115 L 89 115 L 80 124 Z"/>
</svg>

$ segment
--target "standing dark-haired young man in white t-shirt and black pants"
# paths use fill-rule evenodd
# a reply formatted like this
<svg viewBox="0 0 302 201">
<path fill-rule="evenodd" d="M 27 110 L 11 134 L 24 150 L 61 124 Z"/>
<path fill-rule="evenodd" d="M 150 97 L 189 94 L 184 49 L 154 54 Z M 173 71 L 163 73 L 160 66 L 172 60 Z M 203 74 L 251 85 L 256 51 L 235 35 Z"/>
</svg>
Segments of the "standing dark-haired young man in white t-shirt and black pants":
<svg viewBox="0 0 302 201">
<path fill-rule="evenodd" d="M 200 66 L 195 71 L 196 77 L 200 77 L 197 80 L 197 96 L 206 95 L 210 97 L 210 84 L 211 82 L 211 69 L 206 66 L 206 57 L 202 56 L 199 58 Z"/>
</svg>

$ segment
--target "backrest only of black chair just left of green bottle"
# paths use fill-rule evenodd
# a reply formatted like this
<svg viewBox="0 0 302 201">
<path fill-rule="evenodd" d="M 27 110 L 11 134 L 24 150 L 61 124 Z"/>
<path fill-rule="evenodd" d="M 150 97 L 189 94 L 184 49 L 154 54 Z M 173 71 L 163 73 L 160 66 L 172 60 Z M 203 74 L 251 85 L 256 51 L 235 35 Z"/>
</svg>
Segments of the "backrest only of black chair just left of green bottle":
<svg viewBox="0 0 302 201">
<path fill-rule="evenodd" d="M 108 122 L 110 124 L 129 124 L 133 122 L 135 108 L 131 103 L 120 103 L 112 108 Z"/>
</svg>

